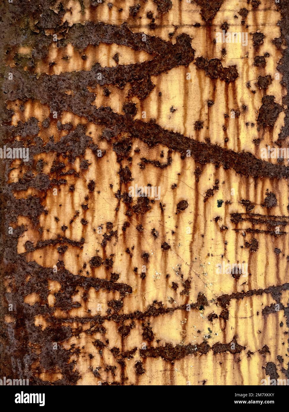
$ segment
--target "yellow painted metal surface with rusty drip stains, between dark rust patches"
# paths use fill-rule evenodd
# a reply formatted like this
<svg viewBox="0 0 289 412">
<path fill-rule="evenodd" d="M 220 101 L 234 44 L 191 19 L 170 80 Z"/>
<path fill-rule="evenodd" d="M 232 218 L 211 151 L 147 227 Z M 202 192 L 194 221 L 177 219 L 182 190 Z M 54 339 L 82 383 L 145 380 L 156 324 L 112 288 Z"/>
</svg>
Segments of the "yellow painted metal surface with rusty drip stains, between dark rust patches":
<svg viewBox="0 0 289 412">
<path fill-rule="evenodd" d="M 146 33 L 172 43 L 176 42 L 177 35 L 186 33 L 192 39 L 195 59 L 187 67 L 174 67 L 152 76 L 151 81 L 155 87 L 144 99 L 127 97 L 131 87 L 129 83 L 122 89 L 109 84 L 107 87 L 111 93 L 108 97 L 103 95 L 104 86 L 98 84 L 90 89 L 96 95 L 92 105 L 97 108 L 101 105 L 110 106 L 113 112 L 122 115 L 122 104 L 131 101 L 136 103 L 138 109 L 134 120 L 149 122 L 150 119 L 155 119 L 155 123 L 163 129 L 234 152 L 250 152 L 261 159 L 261 147 L 273 147 L 273 142 L 277 140 L 284 125 L 284 111 L 277 117 L 272 128 L 258 125 L 262 97 L 273 95 L 274 101 L 282 105 L 282 96 L 287 93 L 280 84 L 282 75 L 277 71 L 281 49 L 278 50 L 271 42 L 275 37 L 280 37 L 277 22 L 281 16 L 274 2 L 263 0 L 258 8 L 252 9 L 252 5 L 248 5 L 245 0 L 227 0 L 210 23 L 202 19 L 200 6 L 195 2 L 173 0 L 172 8 L 163 14 L 158 12 L 155 2 L 140 2 L 141 8 L 136 17 L 129 15 L 129 7 L 133 3 L 115 1 L 111 8 L 106 3 L 92 7 L 84 0 L 82 12 L 81 2 L 70 1 L 66 4 L 69 11 L 64 14 L 62 21 L 68 23 L 68 30 L 76 23 L 84 24 L 87 21 L 115 25 L 127 21 L 129 29 L 134 33 Z M 120 7 L 122 12 L 118 11 Z M 244 24 L 241 24 L 242 16 L 238 14 L 242 8 L 249 11 Z M 149 11 L 155 17 L 154 29 L 150 28 L 150 20 L 146 17 Z M 224 21 L 229 24 L 228 31 L 247 33 L 247 45 L 214 42 L 216 33 L 222 31 L 220 26 Z M 200 27 L 195 23 L 200 23 Z M 252 33 L 258 30 L 266 37 L 256 52 L 252 44 Z M 53 30 L 50 33 L 47 30 L 46 35 L 53 34 L 52 32 Z M 174 35 L 170 37 L 169 33 Z M 223 48 L 226 49 L 226 54 L 222 54 Z M 17 52 L 24 56 L 31 53 L 31 50 L 19 46 Z M 81 57 L 83 53 L 87 56 L 86 60 Z M 75 70 L 90 70 L 96 62 L 102 67 L 113 67 L 116 66 L 113 60 L 115 53 L 119 54 L 120 65 L 151 59 L 150 54 L 144 51 L 137 52 L 115 43 L 101 43 L 99 46 L 90 44 L 85 51 L 80 52 L 70 43 L 59 48 L 52 42 L 47 58 L 35 63 L 33 73 L 60 75 Z M 254 66 L 254 56 L 263 56 L 265 53 L 269 54 L 266 66 Z M 65 56 L 68 59 L 62 59 Z M 237 80 L 227 83 L 219 78 L 206 76 L 205 71 L 198 69 L 195 64 L 196 58 L 200 56 L 220 59 L 223 67 L 235 65 L 239 74 Z M 12 59 L 9 59 L 10 56 L 7 57 L 6 64 L 15 66 Z M 56 64 L 49 66 L 51 61 Z M 256 87 L 259 75 L 272 76 L 268 89 Z M 251 88 L 247 87 L 248 82 Z M 73 91 L 68 89 L 67 94 L 73 96 Z M 208 100 L 214 101 L 211 107 Z M 19 110 L 21 104 L 24 105 L 24 110 Z M 40 152 L 34 157 L 35 175 L 35 164 L 39 159 L 44 161 L 42 173 L 49 178 L 55 177 L 51 172 L 54 162 L 63 162 L 63 172 L 73 169 L 75 173 L 66 174 L 66 185 L 52 185 L 45 192 L 35 187 L 13 192 L 17 199 L 27 199 L 29 195 L 40 197 L 42 206 L 48 211 L 39 216 L 37 227 L 29 217 L 23 215 L 19 215 L 17 222 L 12 224 L 13 227 L 24 225 L 26 229 L 19 236 L 17 253 L 24 253 L 27 262 L 36 262 L 52 269 L 62 260 L 63 266 L 71 274 L 88 278 L 109 280 L 110 273 L 114 272 L 120 274 L 118 282 L 132 288 L 132 293 L 122 297 L 119 292 L 102 288 L 95 290 L 94 287 L 89 287 L 85 290 L 80 283 L 71 295 L 72 302 L 79 302 L 80 306 L 62 310 L 55 304 L 54 295 L 63 291 L 63 285 L 53 278 L 48 279 L 49 293 L 45 303 L 53 311 L 52 314 L 39 313 L 35 316 L 35 326 L 44 331 L 56 322 L 71 328 L 72 336 L 59 344 L 67 350 L 73 348 L 68 362 L 75 362 L 73 370 L 79 373 L 78 385 L 104 382 L 120 382 L 125 385 L 261 385 L 262 379 L 269 376 L 269 369 L 266 370 L 268 363 L 274 363 L 278 377 L 286 379 L 288 326 L 284 307 L 288 306 L 289 292 L 286 286 L 278 290 L 275 287 L 288 283 L 288 234 L 275 235 L 266 231 L 275 232 L 278 220 L 288 223 L 287 179 L 244 176 L 231 167 L 216 167 L 216 164 L 209 161 L 200 165 L 193 156 L 181 157 L 176 150 L 169 151 L 166 145 L 150 147 L 133 138 L 130 158 L 121 161 L 122 168 L 127 166 L 131 171 L 133 180 L 121 184 L 118 174 L 120 164 L 112 147 L 114 140 L 101 138 L 103 126 L 89 122 L 84 116 L 72 111 L 63 110 L 57 120 L 44 128 L 41 122 L 51 116 L 49 102 L 43 103 L 38 98 L 8 101 L 7 107 L 14 110 L 11 123 L 14 126 L 19 122 L 26 122 L 32 116 L 38 119 L 38 136 L 43 140 L 43 145 L 47 144 L 52 135 L 55 141 L 59 141 L 78 125 L 84 125 L 87 128 L 86 135 L 92 138 L 99 149 L 105 151 L 105 155 L 98 158 L 87 147 L 85 154 L 76 157 L 72 163 L 56 152 Z M 240 116 L 234 117 L 238 110 Z M 143 113 L 146 117 L 143 117 Z M 228 114 L 228 117 L 224 117 L 224 114 Z M 71 123 L 72 129 L 59 131 L 57 121 L 62 124 Z M 195 129 L 196 121 L 203 122 L 202 129 Z M 127 130 L 122 136 L 117 136 L 115 141 L 129 137 L 129 132 Z M 254 139 L 260 139 L 261 143 L 256 145 Z M 156 167 L 148 162 L 145 167 L 140 167 L 143 164 L 142 158 L 166 163 L 169 156 L 172 161 L 167 167 Z M 87 160 L 88 169 L 81 168 L 83 159 Z M 277 164 L 277 159 L 268 159 L 268 162 Z M 19 159 L 13 161 L 14 169 L 9 172 L 8 183 L 19 182 L 29 170 L 30 166 L 20 164 Z M 197 168 L 201 171 L 198 179 L 194 173 Z M 87 186 L 91 180 L 95 182 L 93 192 Z M 151 207 L 146 213 L 132 213 L 132 216 L 128 216 L 128 205 L 122 199 L 117 199 L 115 194 L 117 190 L 128 191 L 135 184 L 139 187 L 151 185 L 160 188 L 160 198 L 155 196 L 157 199 L 154 200 L 150 197 L 154 202 L 150 202 Z M 73 192 L 70 190 L 71 185 L 75 186 Z M 207 191 L 213 189 L 213 186 L 218 188 L 206 198 Z M 274 193 L 277 199 L 277 204 L 271 208 L 264 207 L 268 192 Z M 254 204 L 254 210 L 246 212 L 244 204 L 240 203 L 243 199 L 250 200 Z M 177 204 L 182 200 L 188 202 L 188 207 L 176 213 Z M 221 207 L 218 200 L 223 200 Z M 137 199 L 133 198 L 132 205 L 136 205 L 136 202 Z M 83 204 L 88 204 L 87 210 L 82 207 Z M 240 213 L 244 220 L 232 221 L 232 213 Z M 264 220 L 260 219 L 262 216 L 265 216 Z M 268 227 L 270 216 L 276 221 L 276 225 Z M 259 220 L 252 223 L 250 218 Z M 81 223 L 82 219 L 87 223 Z M 116 232 L 103 247 L 103 234 L 109 234 L 107 222 L 112 223 L 113 231 Z M 127 227 L 124 226 L 125 222 L 129 223 Z M 63 225 L 68 227 L 65 232 L 61 229 Z M 136 229 L 138 225 L 143 226 L 142 232 Z M 38 231 L 39 227 L 43 229 L 41 232 Z M 283 225 L 280 230 L 288 232 L 286 227 Z M 246 231 L 250 228 L 261 232 Z M 157 232 L 157 237 L 153 235 L 153 229 Z M 63 254 L 57 249 L 59 244 L 26 250 L 27 241 L 36 246 L 38 241 L 56 239 L 58 235 L 75 242 L 85 238 L 85 242 L 82 248 L 67 243 L 68 249 Z M 250 248 L 252 239 L 256 239 L 258 243 L 257 250 Z M 170 246 L 169 250 L 163 250 L 164 242 Z M 148 259 L 143 258 L 143 253 L 148 253 Z M 112 259 L 113 267 L 92 267 L 89 262 L 95 255 L 99 255 L 102 260 Z M 245 269 L 239 277 L 232 276 L 229 269 L 229 273 L 218 273 L 218 265 L 221 265 L 222 272 L 226 272 L 223 268 L 228 268 L 228 264 L 243 264 Z M 142 279 L 142 273 L 145 273 L 145 279 Z M 178 286 L 176 290 L 172 287 L 174 284 Z M 186 285 L 189 285 L 187 292 Z M 206 304 L 200 304 L 200 294 L 205 296 Z M 228 304 L 222 306 L 220 297 L 223 295 L 230 297 Z M 133 315 L 123 322 L 108 319 L 108 302 L 113 299 L 123 302 L 119 315 Z M 33 305 L 35 302 L 42 302 L 42 298 L 36 292 L 23 296 L 23 301 L 27 305 Z M 190 306 L 196 302 L 199 303 Z M 172 310 L 160 314 L 150 313 L 138 319 L 136 311 L 144 314 L 151 305 L 155 307 L 155 312 L 159 308 Z M 268 307 L 273 307 L 274 310 L 267 311 Z M 228 311 L 228 318 L 224 312 L 222 315 L 224 310 Z M 210 314 L 216 316 L 211 318 Z M 92 328 L 89 318 L 97 315 L 103 316 L 102 326 L 106 332 L 85 332 Z M 78 318 L 83 321 L 77 321 Z M 13 323 L 13 314 L 7 321 Z M 127 336 L 120 334 L 120 325 L 130 326 Z M 152 328 L 154 337 L 151 341 L 143 337 L 145 326 Z M 97 339 L 103 343 L 103 348 L 97 346 Z M 169 353 L 171 350 L 179 353 L 183 350 L 182 347 L 194 347 L 202 342 L 209 345 L 207 353 L 202 353 L 202 349 L 195 346 L 195 353 L 191 351 L 184 356 L 176 355 L 177 358 L 173 360 L 169 358 L 170 355 L 167 359 L 162 357 L 160 352 L 157 357 L 146 356 L 144 353 L 149 352 L 142 352 L 170 345 L 167 347 Z M 224 349 L 222 344 L 227 344 L 229 349 Z M 235 351 L 236 346 L 239 348 L 238 345 L 242 348 Z M 266 345 L 268 350 L 264 349 Z M 119 349 L 120 354 L 134 348 L 136 351 L 131 357 L 122 357 L 120 354 L 114 356 L 111 352 L 114 347 Z M 124 361 L 125 365 L 121 365 L 118 360 Z M 137 362 L 141 362 L 145 370 L 141 375 L 136 373 Z M 107 368 L 108 365 L 116 367 L 114 373 Z M 57 384 L 57 379 L 62 377 L 60 368 L 47 370 L 37 362 L 31 365 L 31 370 L 42 381 Z"/>
</svg>

